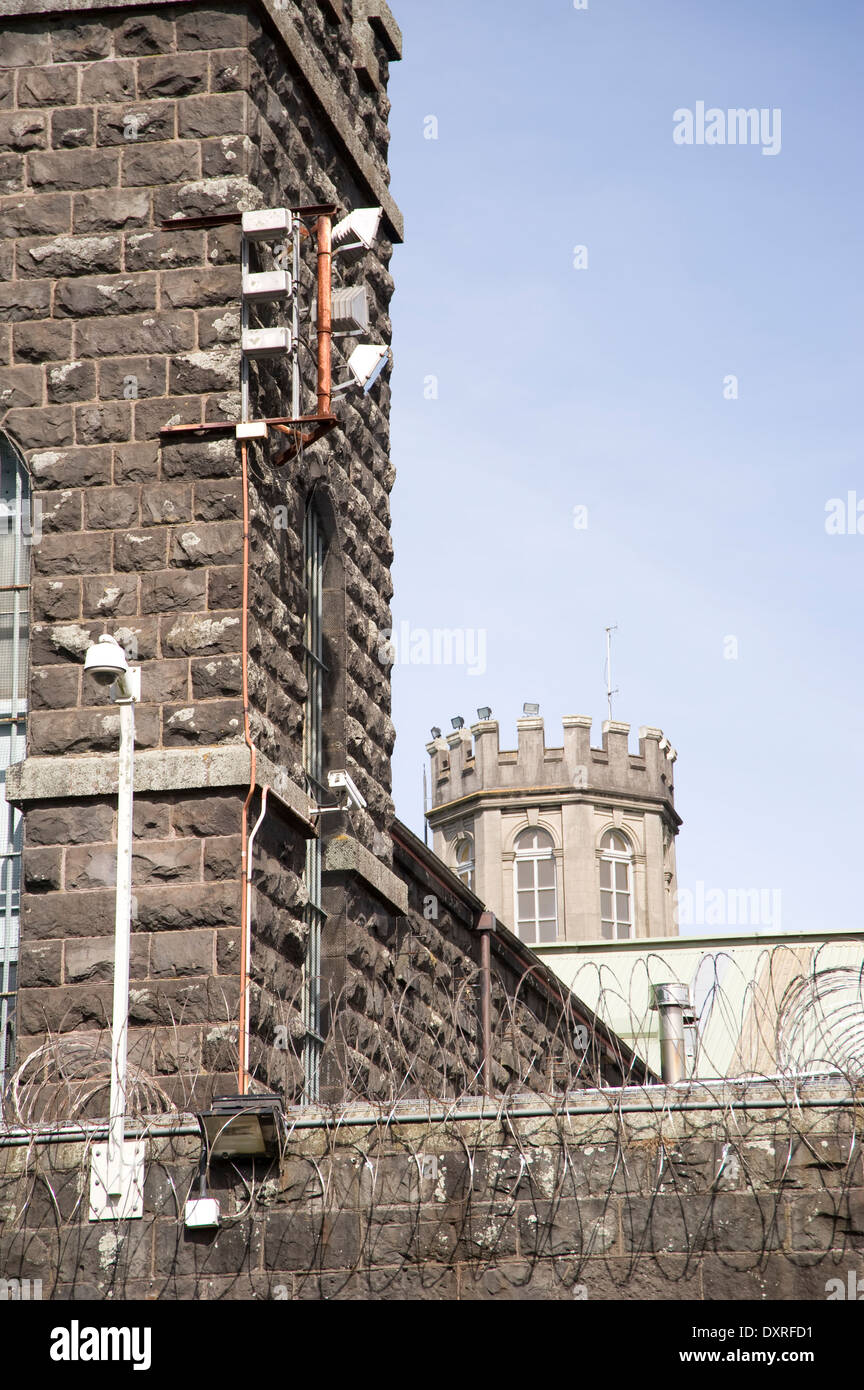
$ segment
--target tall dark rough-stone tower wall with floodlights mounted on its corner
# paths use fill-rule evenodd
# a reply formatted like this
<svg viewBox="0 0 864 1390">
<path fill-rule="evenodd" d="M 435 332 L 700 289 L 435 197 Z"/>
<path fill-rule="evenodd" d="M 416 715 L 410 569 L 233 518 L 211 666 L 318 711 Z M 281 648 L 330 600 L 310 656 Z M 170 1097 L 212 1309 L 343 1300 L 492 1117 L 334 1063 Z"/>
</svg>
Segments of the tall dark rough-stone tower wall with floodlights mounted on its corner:
<svg viewBox="0 0 864 1390">
<path fill-rule="evenodd" d="M 136 808 L 131 1056 L 186 1104 L 236 1088 L 249 755 L 233 777 L 214 785 L 211 774 L 217 753 L 243 744 L 236 218 L 381 203 L 382 238 L 356 278 L 369 288 L 372 335 L 389 342 L 401 224 L 388 192 L 386 79 L 399 31 L 386 4 L 365 0 L 21 10 L 0 4 L 0 428 L 24 452 L 43 534 L 32 546 L 28 762 L 10 778 L 26 842 L 18 1061 L 57 1033 L 103 1048 L 115 827 L 110 788 L 96 795 L 90 774 L 94 755 L 111 764 L 118 720 L 82 662 L 108 631 L 142 666 L 138 756 L 158 763 Z M 313 267 L 304 253 L 307 307 Z M 308 411 L 314 356 L 301 363 Z M 254 371 L 253 413 L 288 414 L 289 382 L 286 363 Z M 281 435 L 249 452 L 250 813 L 265 783 L 282 784 L 253 892 L 253 1056 L 274 1080 L 286 1080 L 286 1056 L 263 1070 L 258 1059 L 286 1016 L 296 1031 L 314 833 L 301 770 L 313 493 L 329 542 L 326 763 L 347 766 L 368 802 L 350 834 L 390 855 L 393 726 L 374 659 L 392 592 L 388 410 L 385 377 L 290 467 L 275 461 Z M 204 432 L 164 432 L 181 425 Z M 296 1086 L 292 1076 L 289 1094 Z"/>
</svg>

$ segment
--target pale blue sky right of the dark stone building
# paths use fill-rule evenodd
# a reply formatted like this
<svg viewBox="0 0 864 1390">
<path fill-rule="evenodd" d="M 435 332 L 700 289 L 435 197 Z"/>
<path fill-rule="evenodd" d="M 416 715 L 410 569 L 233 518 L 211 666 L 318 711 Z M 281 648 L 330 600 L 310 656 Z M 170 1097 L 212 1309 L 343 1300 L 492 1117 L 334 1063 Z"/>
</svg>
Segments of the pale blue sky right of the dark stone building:
<svg viewBox="0 0 864 1390">
<path fill-rule="evenodd" d="M 479 705 L 504 746 L 524 701 L 599 744 L 617 623 L 615 717 L 679 752 L 679 885 L 857 926 L 864 535 L 825 506 L 864 500 L 864 6 L 393 11 L 394 616 L 486 634 L 483 674 L 394 669 L 397 813 Z M 697 101 L 779 108 L 781 152 L 675 145 Z"/>
</svg>

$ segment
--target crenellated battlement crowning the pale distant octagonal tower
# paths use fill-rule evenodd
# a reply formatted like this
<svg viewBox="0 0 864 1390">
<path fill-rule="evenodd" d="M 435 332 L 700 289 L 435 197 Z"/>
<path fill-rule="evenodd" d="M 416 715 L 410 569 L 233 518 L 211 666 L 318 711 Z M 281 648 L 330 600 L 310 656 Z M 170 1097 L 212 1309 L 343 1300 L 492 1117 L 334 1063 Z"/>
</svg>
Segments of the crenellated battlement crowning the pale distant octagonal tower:
<svg viewBox="0 0 864 1390">
<path fill-rule="evenodd" d="M 611 792 L 674 805 L 676 752 L 661 728 L 639 730 L 629 751 L 629 724 L 603 721 L 603 744 L 592 746 L 592 719 L 565 714 L 564 745 L 547 748 L 542 717 L 517 720 L 518 746 L 499 746 L 497 720 L 482 720 L 426 744 L 432 760 L 431 810 L 478 792 Z"/>
</svg>

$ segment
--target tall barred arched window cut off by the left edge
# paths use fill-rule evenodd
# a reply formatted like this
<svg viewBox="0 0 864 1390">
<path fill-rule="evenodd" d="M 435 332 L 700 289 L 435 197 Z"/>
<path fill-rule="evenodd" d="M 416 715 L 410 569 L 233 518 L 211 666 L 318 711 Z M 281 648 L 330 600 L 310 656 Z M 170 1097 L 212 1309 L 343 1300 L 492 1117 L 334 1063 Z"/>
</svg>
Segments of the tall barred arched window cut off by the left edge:
<svg viewBox="0 0 864 1390">
<path fill-rule="evenodd" d="M 0 1095 L 15 1056 L 22 816 L 6 799 L 6 769 L 26 739 L 29 545 L 35 537 L 24 459 L 0 434 Z"/>
</svg>

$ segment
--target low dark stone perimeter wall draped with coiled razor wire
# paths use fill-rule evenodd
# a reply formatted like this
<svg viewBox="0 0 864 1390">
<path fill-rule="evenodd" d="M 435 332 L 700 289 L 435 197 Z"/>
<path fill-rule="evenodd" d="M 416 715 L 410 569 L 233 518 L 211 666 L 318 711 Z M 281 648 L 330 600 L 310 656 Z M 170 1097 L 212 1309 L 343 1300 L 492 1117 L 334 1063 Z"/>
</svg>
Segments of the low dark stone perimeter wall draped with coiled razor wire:
<svg viewBox="0 0 864 1390">
<path fill-rule="evenodd" d="M 861 1098 L 817 1079 L 294 1111 L 279 1159 L 210 1165 L 218 1232 L 183 1227 L 192 1123 L 151 1130 L 144 1218 L 117 1232 L 88 1223 L 85 1144 L 22 1136 L 0 1275 L 46 1298 L 824 1300 L 864 1268 Z"/>
</svg>

